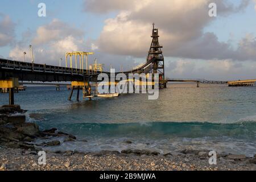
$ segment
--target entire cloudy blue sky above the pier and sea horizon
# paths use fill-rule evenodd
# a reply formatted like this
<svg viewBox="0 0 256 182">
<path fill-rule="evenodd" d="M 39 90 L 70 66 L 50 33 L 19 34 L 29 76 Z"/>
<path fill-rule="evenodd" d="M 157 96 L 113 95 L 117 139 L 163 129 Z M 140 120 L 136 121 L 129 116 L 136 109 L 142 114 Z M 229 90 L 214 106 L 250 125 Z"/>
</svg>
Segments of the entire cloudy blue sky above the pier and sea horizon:
<svg viewBox="0 0 256 182">
<path fill-rule="evenodd" d="M 46 16 L 38 16 L 45 3 Z M 217 16 L 210 17 L 210 3 Z M 146 61 L 159 28 L 166 77 L 256 78 L 255 0 L 1 0 L 0 57 L 59 65 L 67 51 L 94 52 L 119 71 Z M 64 65 L 64 62 L 63 62 Z"/>
</svg>

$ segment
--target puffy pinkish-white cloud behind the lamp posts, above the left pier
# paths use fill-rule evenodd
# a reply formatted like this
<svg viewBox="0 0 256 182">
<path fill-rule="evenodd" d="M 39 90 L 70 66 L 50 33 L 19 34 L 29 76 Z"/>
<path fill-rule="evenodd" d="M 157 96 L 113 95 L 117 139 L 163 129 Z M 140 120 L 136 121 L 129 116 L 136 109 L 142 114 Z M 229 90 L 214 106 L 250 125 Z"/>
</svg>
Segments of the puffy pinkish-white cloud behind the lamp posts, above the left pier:
<svg viewBox="0 0 256 182">
<path fill-rule="evenodd" d="M 59 59 L 65 58 L 65 52 L 85 51 L 90 46 L 84 40 L 84 32 L 78 28 L 73 28 L 59 19 L 53 19 L 50 23 L 40 26 L 36 30 L 35 36 L 28 39 L 26 36 L 30 32 L 23 34 L 23 39 L 11 49 L 9 56 L 11 59 L 23 60 L 23 52 L 26 51 L 26 60 L 31 60 L 31 53 L 28 48 L 32 44 L 36 63 L 56 65 Z"/>
</svg>

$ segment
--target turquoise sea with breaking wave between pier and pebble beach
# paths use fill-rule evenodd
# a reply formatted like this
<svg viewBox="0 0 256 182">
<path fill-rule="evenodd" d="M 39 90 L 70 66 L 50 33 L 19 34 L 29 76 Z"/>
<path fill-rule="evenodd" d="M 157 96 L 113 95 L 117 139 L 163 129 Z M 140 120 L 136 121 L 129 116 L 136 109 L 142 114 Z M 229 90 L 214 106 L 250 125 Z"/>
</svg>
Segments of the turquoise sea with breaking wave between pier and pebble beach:
<svg viewBox="0 0 256 182">
<path fill-rule="evenodd" d="M 28 87 L 15 103 L 28 110 L 28 121 L 42 129 L 56 127 L 77 136 L 54 150 L 149 149 L 170 152 L 206 148 L 252 156 L 256 154 L 256 87 L 170 84 L 158 100 L 146 94 L 68 101 L 69 90 Z M 0 104 L 8 102 L 0 94 Z M 88 142 L 82 142 L 86 139 Z M 125 143 L 131 140 L 131 144 Z"/>
</svg>

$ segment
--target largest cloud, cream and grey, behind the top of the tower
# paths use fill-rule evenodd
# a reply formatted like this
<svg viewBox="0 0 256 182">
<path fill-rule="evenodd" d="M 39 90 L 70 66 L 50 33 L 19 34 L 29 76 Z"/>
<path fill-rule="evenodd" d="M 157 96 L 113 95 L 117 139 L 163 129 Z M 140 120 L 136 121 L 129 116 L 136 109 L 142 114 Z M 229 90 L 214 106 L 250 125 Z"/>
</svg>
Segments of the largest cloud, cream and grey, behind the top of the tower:
<svg viewBox="0 0 256 182">
<path fill-rule="evenodd" d="M 246 49 L 234 50 L 230 43 L 220 42 L 213 32 L 203 32 L 214 20 L 208 15 L 210 2 L 217 4 L 217 14 L 221 17 L 244 10 L 249 0 L 241 1 L 238 6 L 221 0 L 132 0 L 129 1 L 131 5 L 125 7 L 119 7 L 115 2 L 108 2 L 105 7 L 102 1 L 86 1 L 94 13 L 98 12 L 94 9 L 103 7 L 105 11 L 119 10 L 117 16 L 105 20 L 97 41 L 98 48 L 106 53 L 146 57 L 151 43 L 152 22 L 155 22 L 164 56 L 208 60 L 256 58 L 253 54 L 240 56 L 240 53 L 247 54 L 253 43 Z"/>
</svg>

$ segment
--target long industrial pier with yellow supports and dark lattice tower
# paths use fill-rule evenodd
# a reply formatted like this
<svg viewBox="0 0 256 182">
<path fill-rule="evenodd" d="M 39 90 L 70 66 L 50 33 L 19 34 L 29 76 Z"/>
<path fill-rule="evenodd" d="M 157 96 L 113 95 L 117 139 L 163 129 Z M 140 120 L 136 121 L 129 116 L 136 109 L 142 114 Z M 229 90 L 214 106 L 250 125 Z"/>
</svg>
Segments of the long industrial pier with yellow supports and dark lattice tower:
<svg viewBox="0 0 256 182">
<path fill-rule="evenodd" d="M 158 73 L 159 75 L 159 88 L 167 88 L 167 82 L 196 82 L 197 87 L 199 84 L 228 84 L 229 86 L 253 86 L 256 80 L 245 80 L 245 81 L 210 81 L 203 79 L 176 79 L 176 78 L 165 78 L 164 73 L 164 57 L 162 48 L 159 44 L 158 28 L 155 28 L 153 24 L 152 29 L 152 42 L 148 51 L 146 63 L 139 65 L 138 67 L 131 69 L 124 73 L 129 76 L 129 73 Z M 19 90 L 19 82 L 71 82 L 71 93 L 69 94 L 68 100 L 71 100 L 73 91 L 77 90 L 77 100 L 79 100 L 79 91 L 82 89 L 83 96 L 89 97 L 91 86 L 90 83 L 94 82 L 97 85 L 97 77 L 100 73 L 105 73 L 109 77 L 110 72 L 102 71 L 102 64 L 97 64 L 97 60 L 94 65 L 90 65 L 88 68 L 88 55 L 92 55 L 93 52 L 66 52 L 65 53 L 65 67 L 59 67 L 55 65 L 47 64 L 36 64 L 26 63 L 24 61 L 0 59 L 0 88 L 9 92 L 9 104 L 14 105 L 14 92 Z M 72 57 L 75 56 L 75 64 L 72 62 Z M 79 59 L 77 59 L 79 56 Z M 86 59 L 86 66 L 84 69 L 84 57 Z M 69 61 L 68 61 L 69 58 Z M 73 59 L 74 60 L 74 59 Z M 79 62 L 78 62 L 79 61 Z M 69 62 L 69 67 L 68 67 Z M 73 68 L 75 65 L 75 68 Z M 154 78 L 153 78 L 154 82 Z M 49 84 L 48 84 L 49 85 Z M 60 89 L 62 84 L 56 85 L 56 90 Z M 67 85 L 67 84 L 65 84 Z M 24 87 L 23 87 L 24 88 Z"/>
</svg>

